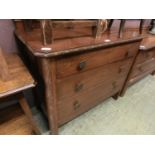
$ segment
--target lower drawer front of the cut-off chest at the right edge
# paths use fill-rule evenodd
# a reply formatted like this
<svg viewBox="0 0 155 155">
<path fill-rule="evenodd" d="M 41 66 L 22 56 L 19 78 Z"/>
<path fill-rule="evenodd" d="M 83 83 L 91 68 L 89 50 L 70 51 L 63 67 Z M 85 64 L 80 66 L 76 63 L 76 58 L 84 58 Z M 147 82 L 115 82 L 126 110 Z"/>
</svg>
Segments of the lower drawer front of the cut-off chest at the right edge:
<svg viewBox="0 0 155 155">
<path fill-rule="evenodd" d="M 140 76 L 141 74 L 144 74 L 145 72 L 151 72 L 155 70 L 155 58 L 149 59 L 145 61 L 142 64 L 137 64 L 132 71 L 131 78 L 134 78 L 135 76 Z"/>
</svg>

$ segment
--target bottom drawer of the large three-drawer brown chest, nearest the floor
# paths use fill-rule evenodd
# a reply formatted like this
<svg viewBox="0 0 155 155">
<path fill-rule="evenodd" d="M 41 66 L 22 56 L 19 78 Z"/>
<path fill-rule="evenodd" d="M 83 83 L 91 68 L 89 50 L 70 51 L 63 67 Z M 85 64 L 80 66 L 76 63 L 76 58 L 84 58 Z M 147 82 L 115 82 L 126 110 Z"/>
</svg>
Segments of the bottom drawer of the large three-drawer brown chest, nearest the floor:
<svg viewBox="0 0 155 155">
<path fill-rule="evenodd" d="M 124 77 L 59 101 L 57 105 L 59 125 L 72 120 L 76 116 L 101 103 L 109 96 L 116 94 L 120 90 L 122 82 L 124 82 Z"/>
</svg>

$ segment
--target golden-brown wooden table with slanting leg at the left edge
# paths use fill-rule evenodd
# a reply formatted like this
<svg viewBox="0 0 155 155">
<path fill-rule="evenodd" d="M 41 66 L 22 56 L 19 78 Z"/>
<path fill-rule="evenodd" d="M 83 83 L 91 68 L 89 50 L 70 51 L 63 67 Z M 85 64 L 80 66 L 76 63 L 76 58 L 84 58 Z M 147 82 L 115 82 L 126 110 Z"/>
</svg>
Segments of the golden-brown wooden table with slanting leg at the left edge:
<svg viewBox="0 0 155 155">
<path fill-rule="evenodd" d="M 40 134 L 23 91 L 35 87 L 35 81 L 17 54 L 5 54 L 0 48 L 0 103 L 16 98 L 28 117 L 33 131 Z"/>
</svg>

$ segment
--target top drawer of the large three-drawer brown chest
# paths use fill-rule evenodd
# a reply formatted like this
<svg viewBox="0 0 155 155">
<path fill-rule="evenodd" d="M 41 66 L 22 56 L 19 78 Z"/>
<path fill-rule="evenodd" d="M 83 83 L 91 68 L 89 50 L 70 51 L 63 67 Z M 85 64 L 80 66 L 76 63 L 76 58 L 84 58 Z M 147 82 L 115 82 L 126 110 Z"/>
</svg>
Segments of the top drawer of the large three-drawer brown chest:
<svg viewBox="0 0 155 155">
<path fill-rule="evenodd" d="M 57 59 L 57 78 L 80 73 L 92 68 L 133 57 L 139 48 L 139 42 L 100 49 L 88 53 Z"/>
</svg>

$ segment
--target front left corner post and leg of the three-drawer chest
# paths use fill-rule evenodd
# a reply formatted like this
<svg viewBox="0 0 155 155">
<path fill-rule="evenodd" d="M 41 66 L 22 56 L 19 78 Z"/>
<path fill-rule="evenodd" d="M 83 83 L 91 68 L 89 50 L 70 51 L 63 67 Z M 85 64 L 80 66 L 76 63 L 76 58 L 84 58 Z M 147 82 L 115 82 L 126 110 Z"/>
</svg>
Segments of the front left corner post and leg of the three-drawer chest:
<svg viewBox="0 0 155 155">
<path fill-rule="evenodd" d="M 45 81 L 45 100 L 48 113 L 49 128 L 52 134 L 58 134 L 55 61 L 50 61 L 47 58 L 43 58 L 41 59 L 41 61 Z"/>
</svg>

